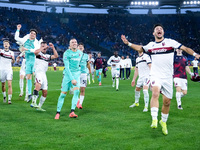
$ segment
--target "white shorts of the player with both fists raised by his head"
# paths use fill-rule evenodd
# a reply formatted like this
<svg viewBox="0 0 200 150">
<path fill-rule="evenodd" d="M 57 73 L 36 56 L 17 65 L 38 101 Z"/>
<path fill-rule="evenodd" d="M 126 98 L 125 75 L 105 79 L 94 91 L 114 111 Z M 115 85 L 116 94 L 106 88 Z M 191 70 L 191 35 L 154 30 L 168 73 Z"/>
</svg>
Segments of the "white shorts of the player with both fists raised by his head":
<svg viewBox="0 0 200 150">
<path fill-rule="evenodd" d="M 41 89 L 42 90 L 47 90 L 48 89 L 48 81 L 47 81 L 46 73 L 37 72 L 35 74 L 35 82 L 41 84 Z"/>
</svg>

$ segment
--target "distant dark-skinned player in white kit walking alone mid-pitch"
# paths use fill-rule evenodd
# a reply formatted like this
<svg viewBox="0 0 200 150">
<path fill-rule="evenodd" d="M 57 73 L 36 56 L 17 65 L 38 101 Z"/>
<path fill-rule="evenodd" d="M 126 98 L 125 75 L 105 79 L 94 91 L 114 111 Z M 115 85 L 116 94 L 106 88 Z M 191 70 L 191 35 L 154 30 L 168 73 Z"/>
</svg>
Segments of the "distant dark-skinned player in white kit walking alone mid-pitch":
<svg viewBox="0 0 200 150">
<path fill-rule="evenodd" d="M 120 75 L 120 61 L 121 58 L 118 56 L 118 52 L 115 51 L 114 55 L 111 56 L 108 60 L 108 65 L 111 66 L 111 74 L 112 74 L 112 87 L 115 87 L 115 79 L 116 79 L 116 91 L 119 90 L 119 75 Z"/>
</svg>

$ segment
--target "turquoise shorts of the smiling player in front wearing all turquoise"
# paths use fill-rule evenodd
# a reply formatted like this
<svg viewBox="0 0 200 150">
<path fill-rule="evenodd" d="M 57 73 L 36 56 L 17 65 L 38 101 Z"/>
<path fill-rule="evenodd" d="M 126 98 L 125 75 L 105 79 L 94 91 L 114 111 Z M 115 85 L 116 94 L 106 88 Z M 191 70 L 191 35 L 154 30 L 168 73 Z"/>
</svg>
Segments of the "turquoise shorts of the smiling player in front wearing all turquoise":
<svg viewBox="0 0 200 150">
<path fill-rule="evenodd" d="M 61 91 L 62 92 L 67 92 L 71 88 L 78 87 L 80 88 L 80 76 L 75 77 L 75 80 L 77 81 L 76 85 L 73 85 L 71 81 L 64 75 L 63 80 L 62 80 L 62 86 L 61 86 Z"/>
</svg>

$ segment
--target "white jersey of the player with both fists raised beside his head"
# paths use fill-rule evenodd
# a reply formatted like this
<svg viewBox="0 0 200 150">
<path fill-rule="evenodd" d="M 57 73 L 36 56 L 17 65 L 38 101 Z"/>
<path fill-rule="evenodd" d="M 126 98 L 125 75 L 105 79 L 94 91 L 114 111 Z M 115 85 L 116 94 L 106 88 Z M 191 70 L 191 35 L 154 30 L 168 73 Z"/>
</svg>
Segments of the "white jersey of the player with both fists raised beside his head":
<svg viewBox="0 0 200 150">
<path fill-rule="evenodd" d="M 51 55 L 40 52 L 35 60 L 35 72 L 44 72 L 48 70 L 48 64 L 51 60 Z"/>
</svg>

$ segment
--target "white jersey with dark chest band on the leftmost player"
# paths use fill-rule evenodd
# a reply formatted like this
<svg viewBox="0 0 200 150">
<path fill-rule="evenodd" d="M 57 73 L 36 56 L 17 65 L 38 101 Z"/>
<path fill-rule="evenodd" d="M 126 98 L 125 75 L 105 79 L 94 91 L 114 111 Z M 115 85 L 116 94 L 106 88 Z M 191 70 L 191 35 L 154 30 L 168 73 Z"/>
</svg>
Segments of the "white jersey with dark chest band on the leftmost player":
<svg viewBox="0 0 200 150">
<path fill-rule="evenodd" d="M 12 58 L 14 58 L 13 51 L 0 49 L 0 70 L 12 70 Z"/>
</svg>

